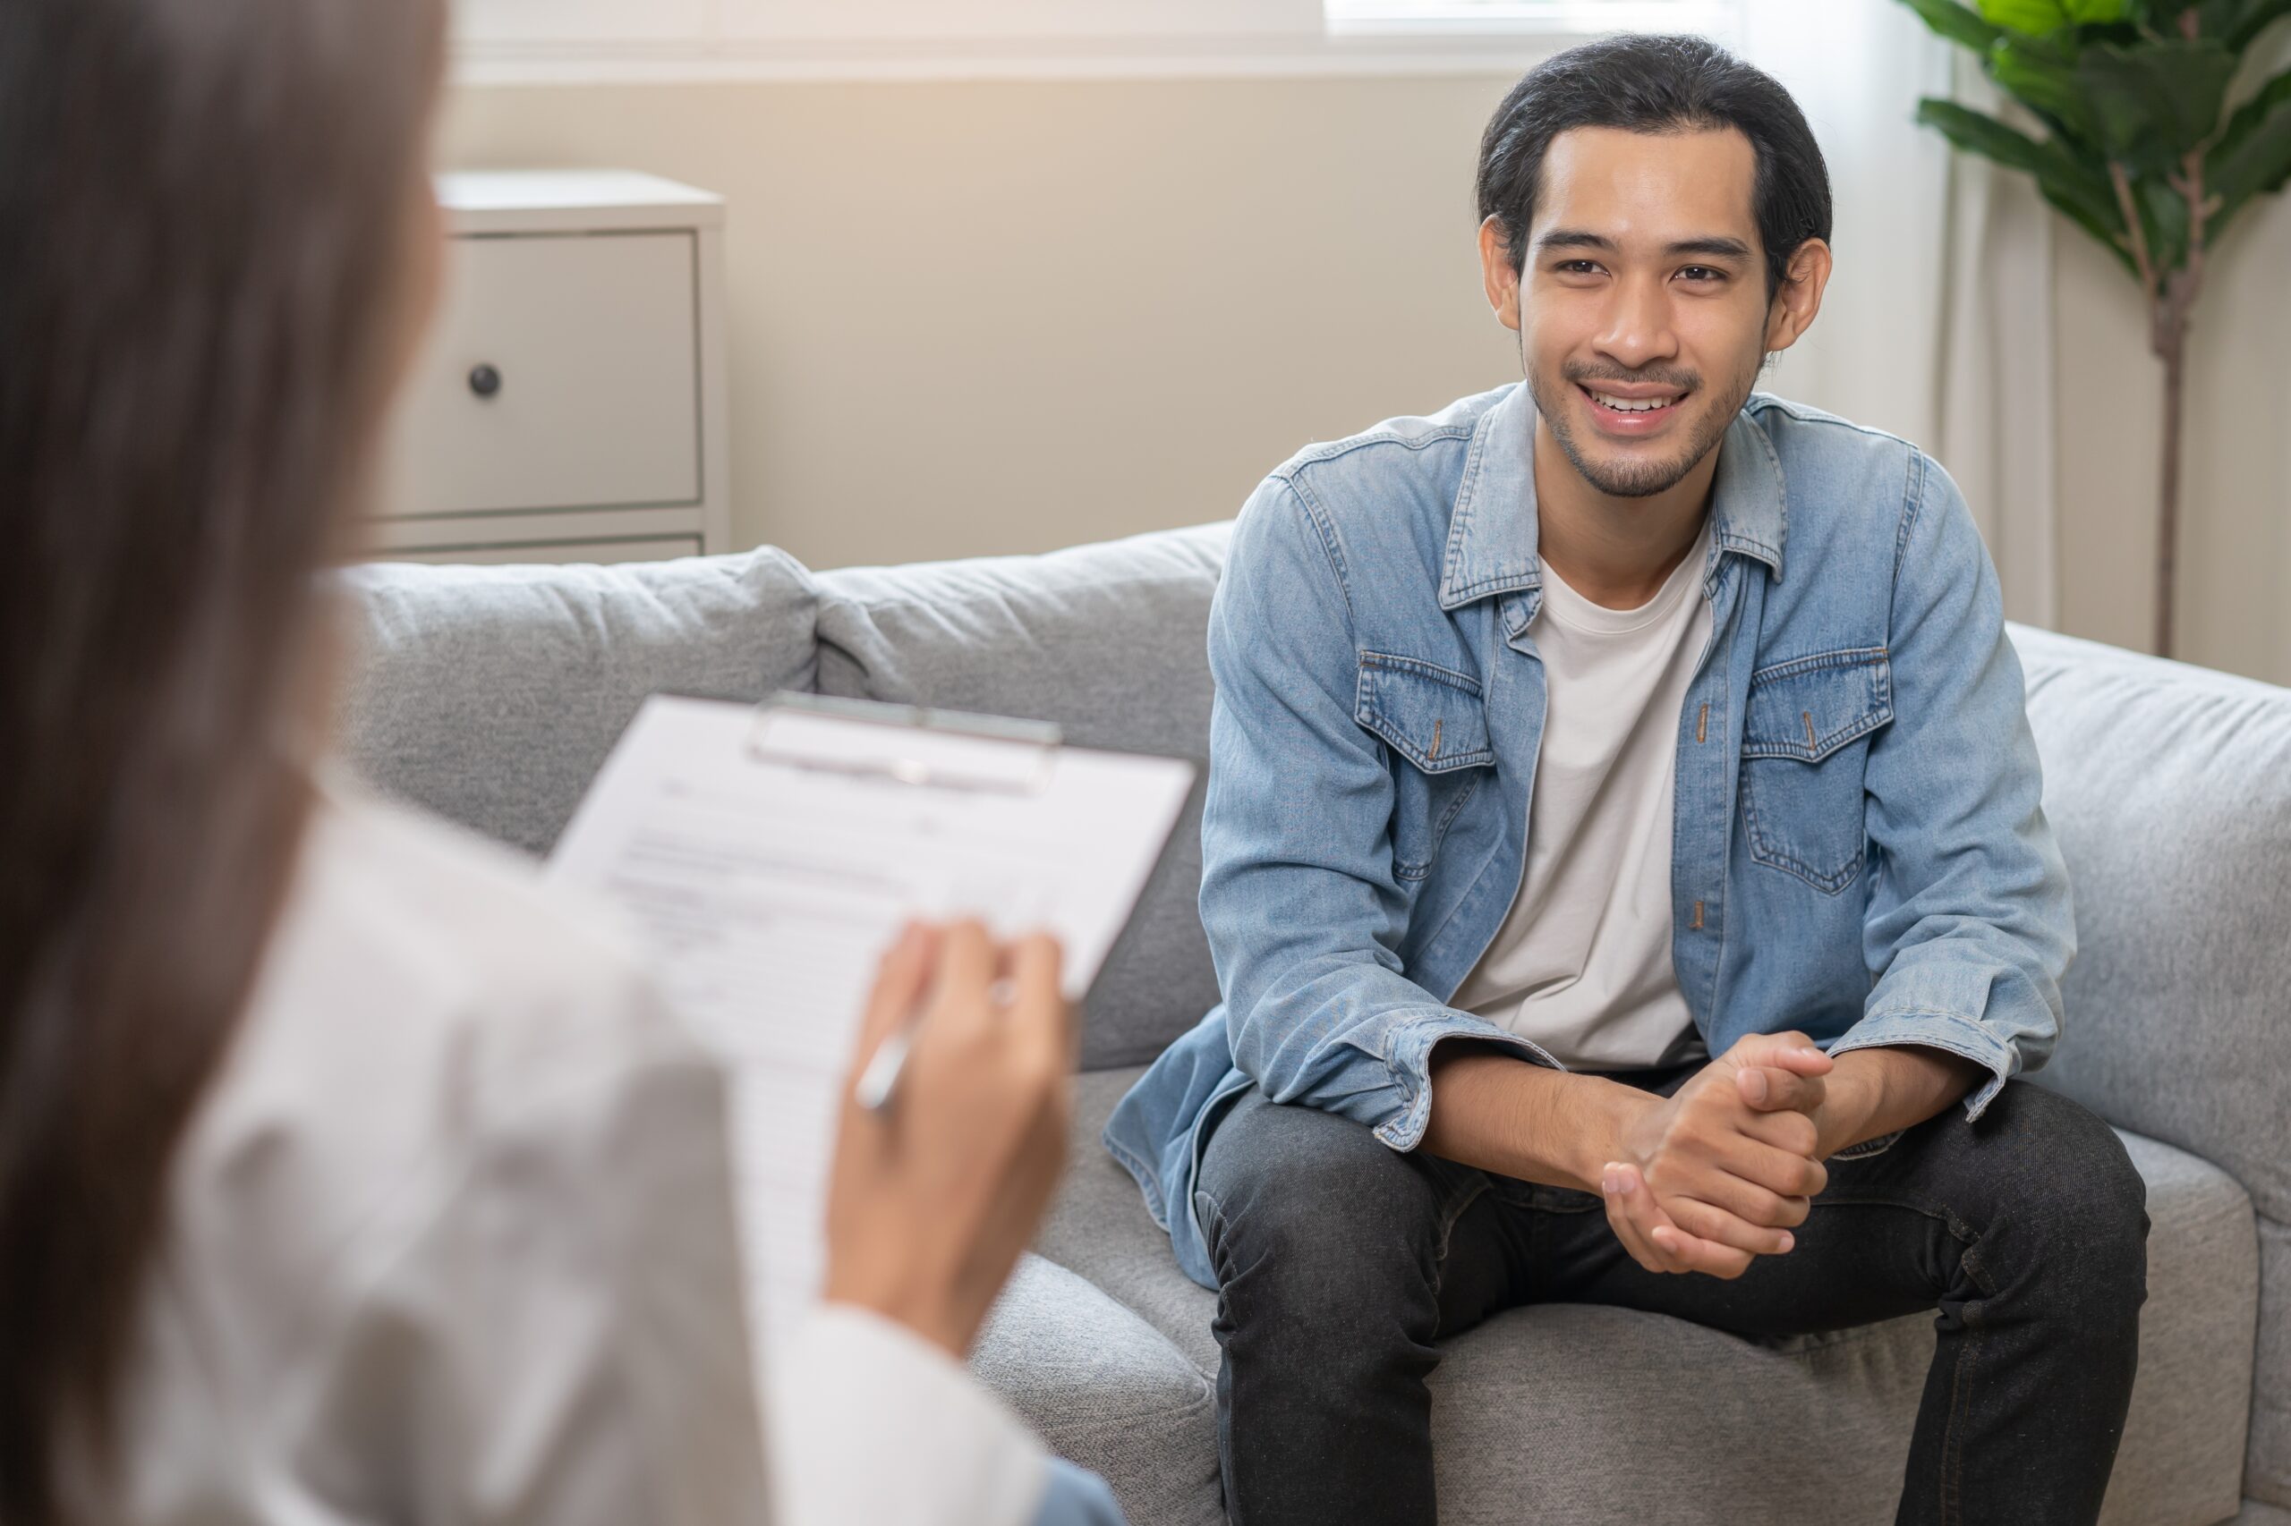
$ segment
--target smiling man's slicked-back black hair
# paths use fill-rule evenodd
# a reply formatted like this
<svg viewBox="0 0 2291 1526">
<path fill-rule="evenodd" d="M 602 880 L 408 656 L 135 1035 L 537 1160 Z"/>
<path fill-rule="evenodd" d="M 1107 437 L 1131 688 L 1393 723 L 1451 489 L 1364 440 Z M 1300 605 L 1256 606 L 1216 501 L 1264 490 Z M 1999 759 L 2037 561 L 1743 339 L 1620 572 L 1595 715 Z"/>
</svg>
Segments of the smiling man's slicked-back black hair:
<svg viewBox="0 0 2291 1526">
<path fill-rule="evenodd" d="M 1808 238 L 1831 236 L 1831 172 L 1805 112 L 1773 76 L 1700 37 L 1606 37 L 1558 53 L 1512 85 L 1480 137 L 1480 218 L 1503 227 L 1519 270 L 1544 154 L 1569 128 L 1631 133 L 1737 128 L 1757 151 L 1753 213 L 1766 245 L 1766 298 Z"/>
</svg>

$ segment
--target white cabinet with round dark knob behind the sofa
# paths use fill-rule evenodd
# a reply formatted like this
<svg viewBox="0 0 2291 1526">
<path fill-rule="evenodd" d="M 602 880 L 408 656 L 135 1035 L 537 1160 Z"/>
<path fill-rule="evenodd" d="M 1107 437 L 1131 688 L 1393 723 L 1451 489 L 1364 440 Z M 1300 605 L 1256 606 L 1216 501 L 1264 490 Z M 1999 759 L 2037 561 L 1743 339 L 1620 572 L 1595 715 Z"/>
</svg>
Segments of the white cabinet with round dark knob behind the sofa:
<svg viewBox="0 0 2291 1526">
<path fill-rule="evenodd" d="M 438 176 L 449 252 L 367 554 L 731 550 L 724 204 L 628 172 Z"/>
</svg>

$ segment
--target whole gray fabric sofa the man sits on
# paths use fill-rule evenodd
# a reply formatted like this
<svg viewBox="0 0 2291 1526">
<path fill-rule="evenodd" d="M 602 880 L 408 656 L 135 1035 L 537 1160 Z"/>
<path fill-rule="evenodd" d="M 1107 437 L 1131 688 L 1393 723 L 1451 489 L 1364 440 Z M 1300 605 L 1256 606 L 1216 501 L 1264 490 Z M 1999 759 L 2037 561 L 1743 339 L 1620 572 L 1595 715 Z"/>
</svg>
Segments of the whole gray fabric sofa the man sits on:
<svg viewBox="0 0 2291 1526">
<path fill-rule="evenodd" d="M 357 568 L 341 733 L 376 784 L 534 852 L 653 690 L 926 701 L 1200 758 L 1223 545 L 1210 525 L 820 575 L 777 550 Z M 2291 690 L 2011 635 L 2083 944 L 2041 1084 L 2124 1132 L 2154 1219 L 2105 1519 L 2291 1526 Z M 1214 1295 L 1095 1139 L 1217 999 L 1196 823 L 1091 997 L 1072 1173 L 974 1359 L 1139 1526 L 1223 1519 Z M 1441 1515 L 1890 1521 L 1929 1352 L 1922 1317 L 1755 1343 L 1521 1308 L 1452 1340 L 1434 1379 Z"/>
</svg>

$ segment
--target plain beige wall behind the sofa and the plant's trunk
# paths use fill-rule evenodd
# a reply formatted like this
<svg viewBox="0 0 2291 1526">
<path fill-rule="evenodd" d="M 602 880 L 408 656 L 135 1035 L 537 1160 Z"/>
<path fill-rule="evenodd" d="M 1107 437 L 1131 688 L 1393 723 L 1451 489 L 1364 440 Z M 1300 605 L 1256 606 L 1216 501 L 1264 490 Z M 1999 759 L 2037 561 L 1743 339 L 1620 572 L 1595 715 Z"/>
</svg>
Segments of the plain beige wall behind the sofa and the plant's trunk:
<svg viewBox="0 0 2291 1526">
<path fill-rule="evenodd" d="M 731 199 L 733 527 L 813 566 L 1230 513 L 1297 445 L 1517 376 L 1471 252 L 1507 76 L 465 87 L 442 158 Z M 2057 229 L 2062 628 L 2144 646 L 2156 364 Z M 2218 252 L 2181 655 L 2291 683 L 2291 206 Z"/>
</svg>

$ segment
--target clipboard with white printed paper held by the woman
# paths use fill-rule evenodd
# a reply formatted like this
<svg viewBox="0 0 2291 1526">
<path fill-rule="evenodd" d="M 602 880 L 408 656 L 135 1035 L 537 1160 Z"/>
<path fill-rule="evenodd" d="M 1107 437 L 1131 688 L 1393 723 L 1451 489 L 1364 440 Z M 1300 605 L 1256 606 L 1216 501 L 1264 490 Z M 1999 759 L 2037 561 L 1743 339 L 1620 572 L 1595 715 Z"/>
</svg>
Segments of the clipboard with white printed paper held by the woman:
<svg viewBox="0 0 2291 1526">
<path fill-rule="evenodd" d="M 774 694 L 653 697 L 548 862 L 607 900 L 731 1075 L 751 1327 L 818 1297 L 843 1077 L 875 965 L 912 919 L 1058 935 L 1081 1001 L 1191 795 L 1178 758 L 1056 726 Z"/>
</svg>

